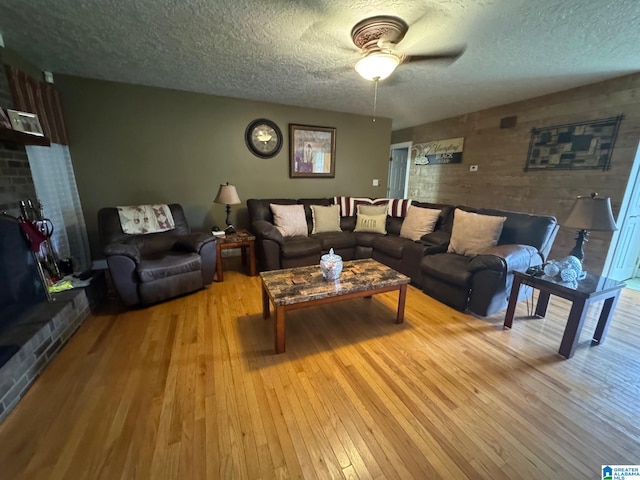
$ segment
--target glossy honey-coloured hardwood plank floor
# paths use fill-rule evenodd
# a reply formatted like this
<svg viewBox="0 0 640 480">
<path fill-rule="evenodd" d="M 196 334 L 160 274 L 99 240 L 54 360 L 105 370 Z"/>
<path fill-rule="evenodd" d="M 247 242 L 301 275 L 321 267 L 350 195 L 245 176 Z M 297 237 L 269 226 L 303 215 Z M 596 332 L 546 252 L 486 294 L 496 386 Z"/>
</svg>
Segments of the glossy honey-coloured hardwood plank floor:
<svg viewBox="0 0 640 480">
<path fill-rule="evenodd" d="M 640 463 L 640 292 L 604 344 L 593 307 L 463 314 L 410 287 L 287 314 L 274 355 L 259 277 L 92 315 L 0 425 L 11 479 L 600 478 Z"/>
</svg>

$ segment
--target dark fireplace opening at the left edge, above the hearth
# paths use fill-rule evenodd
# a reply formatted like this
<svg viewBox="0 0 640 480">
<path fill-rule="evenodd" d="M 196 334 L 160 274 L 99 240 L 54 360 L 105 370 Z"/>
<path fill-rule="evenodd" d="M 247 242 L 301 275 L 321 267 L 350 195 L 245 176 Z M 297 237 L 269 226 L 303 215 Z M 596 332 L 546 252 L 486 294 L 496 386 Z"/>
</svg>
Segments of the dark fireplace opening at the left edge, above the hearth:
<svg viewBox="0 0 640 480">
<path fill-rule="evenodd" d="M 46 287 L 17 219 L 0 215 L 0 366 L 49 319 Z"/>
</svg>

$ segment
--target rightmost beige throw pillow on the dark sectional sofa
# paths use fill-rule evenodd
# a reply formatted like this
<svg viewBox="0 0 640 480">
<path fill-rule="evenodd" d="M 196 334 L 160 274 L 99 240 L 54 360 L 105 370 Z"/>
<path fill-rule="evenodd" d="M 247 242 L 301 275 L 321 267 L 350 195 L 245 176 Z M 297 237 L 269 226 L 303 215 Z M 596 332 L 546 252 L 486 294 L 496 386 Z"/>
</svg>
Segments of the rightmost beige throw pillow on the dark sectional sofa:
<svg viewBox="0 0 640 480">
<path fill-rule="evenodd" d="M 447 252 L 473 257 L 495 247 L 507 217 L 479 215 L 456 208 Z"/>
</svg>

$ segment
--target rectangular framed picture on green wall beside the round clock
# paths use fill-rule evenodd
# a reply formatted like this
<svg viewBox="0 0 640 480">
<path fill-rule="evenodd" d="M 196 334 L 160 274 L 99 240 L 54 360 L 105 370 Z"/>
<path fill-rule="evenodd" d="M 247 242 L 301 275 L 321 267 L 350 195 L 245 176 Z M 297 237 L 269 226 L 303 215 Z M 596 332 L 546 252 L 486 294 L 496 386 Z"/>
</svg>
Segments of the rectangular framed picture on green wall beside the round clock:
<svg viewBox="0 0 640 480">
<path fill-rule="evenodd" d="M 289 124 L 289 176 L 336 176 L 336 129 Z"/>
</svg>

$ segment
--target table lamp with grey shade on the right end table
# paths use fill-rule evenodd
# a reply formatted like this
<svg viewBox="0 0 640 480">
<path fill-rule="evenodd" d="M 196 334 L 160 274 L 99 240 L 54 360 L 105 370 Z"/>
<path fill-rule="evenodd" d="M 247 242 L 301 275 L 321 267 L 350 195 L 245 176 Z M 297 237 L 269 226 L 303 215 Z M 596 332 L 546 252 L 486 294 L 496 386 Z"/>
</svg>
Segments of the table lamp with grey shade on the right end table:
<svg viewBox="0 0 640 480">
<path fill-rule="evenodd" d="M 584 258 L 582 246 L 588 241 L 589 230 L 613 232 L 618 229 L 611 211 L 611 199 L 598 197 L 597 193 L 576 198 L 576 203 L 573 204 L 563 226 L 578 229 L 576 245 L 569 255 L 577 257 L 580 261 Z"/>
</svg>

